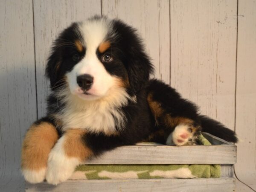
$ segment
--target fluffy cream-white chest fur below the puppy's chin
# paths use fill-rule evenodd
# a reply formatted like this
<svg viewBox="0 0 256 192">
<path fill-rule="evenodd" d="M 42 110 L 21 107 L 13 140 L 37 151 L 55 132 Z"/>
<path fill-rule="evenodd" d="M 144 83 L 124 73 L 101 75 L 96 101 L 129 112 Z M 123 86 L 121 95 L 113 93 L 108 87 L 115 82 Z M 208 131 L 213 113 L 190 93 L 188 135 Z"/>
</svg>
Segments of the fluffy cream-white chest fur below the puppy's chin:
<svg viewBox="0 0 256 192">
<path fill-rule="evenodd" d="M 127 119 L 120 107 L 127 105 L 129 99 L 136 102 L 136 98 L 131 98 L 125 90 L 119 90 L 119 94 L 105 99 L 88 102 L 70 96 L 58 119 L 63 124 L 63 130 L 82 128 L 93 133 L 113 134 L 125 126 Z"/>
</svg>

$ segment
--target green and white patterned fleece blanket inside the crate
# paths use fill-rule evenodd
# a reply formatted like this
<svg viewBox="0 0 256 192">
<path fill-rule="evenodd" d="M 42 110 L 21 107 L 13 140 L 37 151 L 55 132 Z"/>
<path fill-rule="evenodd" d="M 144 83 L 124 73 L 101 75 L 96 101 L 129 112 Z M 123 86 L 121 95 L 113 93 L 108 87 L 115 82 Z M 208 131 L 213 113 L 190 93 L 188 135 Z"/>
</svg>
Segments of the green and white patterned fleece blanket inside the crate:
<svg viewBox="0 0 256 192">
<path fill-rule="evenodd" d="M 199 144 L 211 145 L 202 135 Z M 218 178 L 220 165 L 80 165 L 71 180 L 84 179 L 156 179 Z"/>
</svg>

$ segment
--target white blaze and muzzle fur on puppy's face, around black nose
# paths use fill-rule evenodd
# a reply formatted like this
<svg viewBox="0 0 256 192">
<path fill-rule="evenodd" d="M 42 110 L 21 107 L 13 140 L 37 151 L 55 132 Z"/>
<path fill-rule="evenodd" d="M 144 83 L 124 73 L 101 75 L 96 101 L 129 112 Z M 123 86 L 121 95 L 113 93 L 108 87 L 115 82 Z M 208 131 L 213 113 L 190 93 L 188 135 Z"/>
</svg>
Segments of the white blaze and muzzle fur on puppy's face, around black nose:
<svg viewBox="0 0 256 192">
<path fill-rule="evenodd" d="M 111 21 L 106 18 L 87 20 L 79 23 L 79 33 L 85 46 L 84 58 L 67 73 L 70 91 L 79 95 L 77 76 L 89 74 L 93 76 L 93 84 L 87 92 L 97 97 L 105 96 L 113 86 L 114 79 L 103 66 L 96 52 L 99 45 L 106 41 L 106 36 L 111 32 Z M 80 90 L 81 93 L 81 90 Z M 81 95 L 79 95 L 81 96 Z"/>
</svg>

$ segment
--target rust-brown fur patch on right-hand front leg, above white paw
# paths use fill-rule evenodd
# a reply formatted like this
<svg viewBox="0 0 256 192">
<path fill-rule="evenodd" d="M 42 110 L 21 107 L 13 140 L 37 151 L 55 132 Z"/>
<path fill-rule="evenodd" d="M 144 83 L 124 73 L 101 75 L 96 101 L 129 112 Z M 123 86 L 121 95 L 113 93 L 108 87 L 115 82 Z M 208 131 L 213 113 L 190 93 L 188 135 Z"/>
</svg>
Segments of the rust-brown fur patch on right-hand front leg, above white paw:
<svg viewBox="0 0 256 192">
<path fill-rule="evenodd" d="M 64 151 L 68 157 L 78 157 L 83 161 L 93 154 L 82 140 L 84 134 L 86 131 L 81 129 L 70 129 L 64 134 Z"/>
</svg>

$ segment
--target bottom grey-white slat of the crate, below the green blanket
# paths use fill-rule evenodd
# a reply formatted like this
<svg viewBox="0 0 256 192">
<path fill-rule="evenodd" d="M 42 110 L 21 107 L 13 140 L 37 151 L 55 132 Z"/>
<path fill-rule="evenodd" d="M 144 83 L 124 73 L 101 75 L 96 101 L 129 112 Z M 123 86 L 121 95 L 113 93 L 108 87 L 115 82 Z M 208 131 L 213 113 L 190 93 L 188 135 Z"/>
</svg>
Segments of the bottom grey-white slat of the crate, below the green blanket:
<svg viewBox="0 0 256 192">
<path fill-rule="evenodd" d="M 234 178 L 218 179 L 128 179 L 128 180 L 68 180 L 58 186 L 46 182 L 26 183 L 26 192 L 233 192 Z"/>
</svg>

